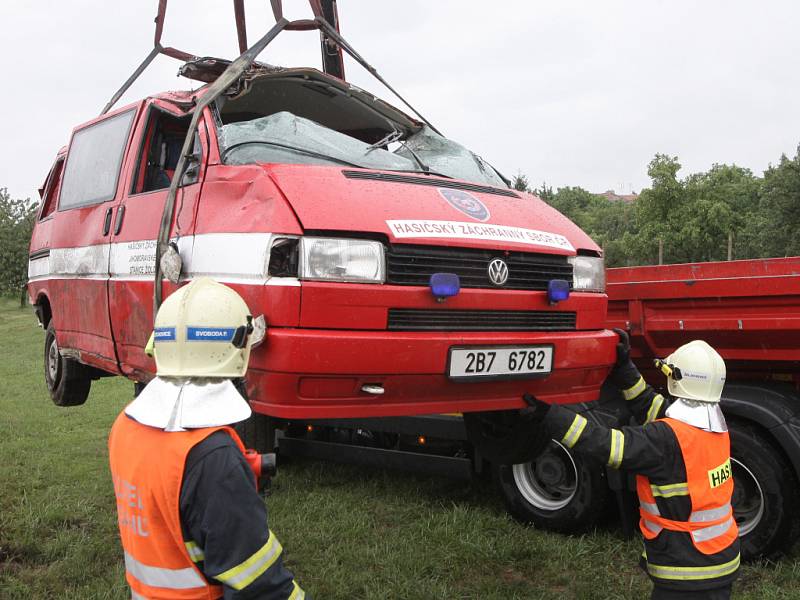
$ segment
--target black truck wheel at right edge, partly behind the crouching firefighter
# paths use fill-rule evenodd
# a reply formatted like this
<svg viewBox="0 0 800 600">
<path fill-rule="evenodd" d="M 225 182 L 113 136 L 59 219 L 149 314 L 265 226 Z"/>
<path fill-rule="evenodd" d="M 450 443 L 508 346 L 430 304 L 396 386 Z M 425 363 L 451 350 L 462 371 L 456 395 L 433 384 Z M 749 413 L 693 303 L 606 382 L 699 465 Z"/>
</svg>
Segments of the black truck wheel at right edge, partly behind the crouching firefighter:
<svg viewBox="0 0 800 600">
<path fill-rule="evenodd" d="M 733 471 L 733 515 L 742 558 L 774 558 L 800 535 L 800 492 L 786 458 L 755 427 L 728 423 Z"/>
</svg>

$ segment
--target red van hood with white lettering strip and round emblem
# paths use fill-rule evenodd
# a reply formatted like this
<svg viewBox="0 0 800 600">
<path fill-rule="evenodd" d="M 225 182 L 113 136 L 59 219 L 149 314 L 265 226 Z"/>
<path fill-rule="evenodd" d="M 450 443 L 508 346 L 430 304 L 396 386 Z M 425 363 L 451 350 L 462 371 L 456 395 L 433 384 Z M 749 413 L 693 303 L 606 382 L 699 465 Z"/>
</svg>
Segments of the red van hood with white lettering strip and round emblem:
<svg viewBox="0 0 800 600">
<path fill-rule="evenodd" d="M 600 248 L 536 196 L 420 173 L 263 165 L 306 232 L 574 255 Z"/>
</svg>

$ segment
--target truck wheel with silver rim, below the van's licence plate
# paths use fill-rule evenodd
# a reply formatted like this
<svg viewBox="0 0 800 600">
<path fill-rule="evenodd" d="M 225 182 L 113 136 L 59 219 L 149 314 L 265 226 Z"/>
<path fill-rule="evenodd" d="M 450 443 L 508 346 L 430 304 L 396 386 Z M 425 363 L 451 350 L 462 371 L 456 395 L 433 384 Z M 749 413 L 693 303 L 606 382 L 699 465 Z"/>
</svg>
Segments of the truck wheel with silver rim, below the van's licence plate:
<svg viewBox="0 0 800 600">
<path fill-rule="evenodd" d="M 574 533 L 607 513 L 605 471 L 551 440 L 535 460 L 496 465 L 495 482 L 508 512 L 541 529 Z"/>
</svg>

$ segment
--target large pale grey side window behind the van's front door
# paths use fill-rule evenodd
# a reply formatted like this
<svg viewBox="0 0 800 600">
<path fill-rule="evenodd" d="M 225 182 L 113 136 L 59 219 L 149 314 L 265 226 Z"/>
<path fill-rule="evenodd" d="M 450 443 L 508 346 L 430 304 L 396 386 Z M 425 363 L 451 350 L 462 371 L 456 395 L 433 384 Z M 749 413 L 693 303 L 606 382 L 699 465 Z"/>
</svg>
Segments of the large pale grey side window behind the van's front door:
<svg viewBox="0 0 800 600">
<path fill-rule="evenodd" d="M 72 136 L 59 210 L 114 198 L 135 110 L 84 127 Z"/>
</svg>

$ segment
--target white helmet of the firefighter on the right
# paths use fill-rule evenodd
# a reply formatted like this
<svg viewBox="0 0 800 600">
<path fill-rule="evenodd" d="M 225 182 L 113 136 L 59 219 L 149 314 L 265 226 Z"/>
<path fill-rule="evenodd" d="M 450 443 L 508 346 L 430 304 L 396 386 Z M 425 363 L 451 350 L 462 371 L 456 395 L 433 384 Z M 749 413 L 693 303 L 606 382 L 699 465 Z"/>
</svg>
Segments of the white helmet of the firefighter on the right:
<svg viewBox="0 0 800 600">
<path fill-rule="evenodd" d="M 670 395 L 718 403 L 725 386 L 725 361 L 703 340 L 684 344 L 656 366 L 667 376 Z"/>
</svg>

